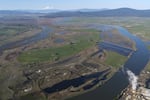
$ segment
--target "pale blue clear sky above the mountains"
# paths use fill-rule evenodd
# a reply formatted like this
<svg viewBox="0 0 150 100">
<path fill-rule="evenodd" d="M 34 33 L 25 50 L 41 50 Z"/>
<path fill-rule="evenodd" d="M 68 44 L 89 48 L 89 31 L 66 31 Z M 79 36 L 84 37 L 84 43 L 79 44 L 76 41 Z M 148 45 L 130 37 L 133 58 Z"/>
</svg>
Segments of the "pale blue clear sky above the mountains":
<svg viewBox="0 0 150 100">
<path fill-rule="evenodd" d="M 0 10 L 150 9 L 150 0 L 0 0 Z"/>
</svg>

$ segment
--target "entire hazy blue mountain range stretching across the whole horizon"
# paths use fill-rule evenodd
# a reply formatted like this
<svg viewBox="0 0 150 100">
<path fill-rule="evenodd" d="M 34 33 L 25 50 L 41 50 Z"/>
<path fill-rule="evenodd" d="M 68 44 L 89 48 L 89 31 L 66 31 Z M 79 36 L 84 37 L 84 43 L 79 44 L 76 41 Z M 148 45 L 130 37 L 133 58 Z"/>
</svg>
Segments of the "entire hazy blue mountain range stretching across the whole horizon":
<svg viewBox="0 0 150 100">
<path fill-rule="evenodd" d="M 43 17 L 150 17 L 150 10 L 131 8 L 79 10 L 0 10 L 0 15 L 43 14 Z"/>
</svg>

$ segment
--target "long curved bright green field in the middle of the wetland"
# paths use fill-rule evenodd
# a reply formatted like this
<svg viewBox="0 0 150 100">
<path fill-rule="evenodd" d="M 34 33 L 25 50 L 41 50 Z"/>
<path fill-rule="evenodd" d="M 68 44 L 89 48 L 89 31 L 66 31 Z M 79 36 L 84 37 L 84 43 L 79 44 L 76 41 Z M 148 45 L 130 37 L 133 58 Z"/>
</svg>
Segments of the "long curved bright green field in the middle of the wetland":
<svg viewBox="0 0 150 100">
<path fill-rule="evenodd" d="M 83 31 L 83 30 L 82 30 Z M 87 31 L 87 30 L 85 30 Z M 91 31 L 92 32 L 92 31 Z M 73 38 L 74 42 L 60 46 L 51 47 L 39 50 L 32 50 L 23 52 L 18 60 L 20 62 L 43 62 L 43 61 L 57 61 L 79 53 L 91 46 L 94 46 L 100 40 L 99 31 L 93 31 L 89 34 L 78 34 Z"/>
</svg>

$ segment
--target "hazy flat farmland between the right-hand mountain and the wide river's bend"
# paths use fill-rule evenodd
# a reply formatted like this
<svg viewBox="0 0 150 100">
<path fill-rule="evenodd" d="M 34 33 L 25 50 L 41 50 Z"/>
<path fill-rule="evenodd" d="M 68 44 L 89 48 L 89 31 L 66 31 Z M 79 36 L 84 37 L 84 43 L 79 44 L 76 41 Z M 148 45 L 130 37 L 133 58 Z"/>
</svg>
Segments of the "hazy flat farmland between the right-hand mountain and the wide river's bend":
<svg viewBox="0 0 150 100">
<path fill-rule="evenodd" d="M 81 23 L 82 22 L 82 23 Z M 67 25 L 86 24 L 117 25 L 128 29 L 131 33 L 150 41 L 150 18 L 143 17 L 73 17 L 65 21 Z"/>
</svg>

